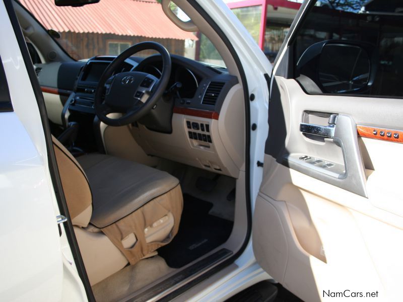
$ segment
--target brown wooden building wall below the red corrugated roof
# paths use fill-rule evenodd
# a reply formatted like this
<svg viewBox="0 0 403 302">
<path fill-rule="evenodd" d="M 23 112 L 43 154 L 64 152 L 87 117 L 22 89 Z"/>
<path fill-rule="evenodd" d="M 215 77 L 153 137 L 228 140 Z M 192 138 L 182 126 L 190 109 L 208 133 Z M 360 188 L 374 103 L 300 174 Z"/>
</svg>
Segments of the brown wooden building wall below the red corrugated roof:
<svg viewBox="0 0 403 302">
<path fill-rule="evenodd" d="M 108 42 L 128 42 L 131 45 L 143 41 L 155 41 L 164 45 L 171 54 L 184 54 L 184 40 L 156 39 L 140 36 L 121 36 L 115 34 L 73 33 L 62 32 L 58 40 L 61 46 L 77 60 L 90 58 L 95 55 L 107 55 Z M 147 56 L 153 51 L 143 51 L 140 55 Z"/>
</svg>

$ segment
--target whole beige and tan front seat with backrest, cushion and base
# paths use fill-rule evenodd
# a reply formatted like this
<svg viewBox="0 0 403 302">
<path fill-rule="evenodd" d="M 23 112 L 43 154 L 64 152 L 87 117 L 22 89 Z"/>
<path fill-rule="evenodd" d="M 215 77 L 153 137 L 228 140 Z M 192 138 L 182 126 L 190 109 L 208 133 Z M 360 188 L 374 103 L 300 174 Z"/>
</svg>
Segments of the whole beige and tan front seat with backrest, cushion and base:
<svg viewBox="0 0 403 302">
<path fill-rule="evenodd" d="M 116 157 L 77 160 L 53 137 L 64 195 L 91 284 L 176 235 L 183 197 L 170 174 Z"/>
</svg>

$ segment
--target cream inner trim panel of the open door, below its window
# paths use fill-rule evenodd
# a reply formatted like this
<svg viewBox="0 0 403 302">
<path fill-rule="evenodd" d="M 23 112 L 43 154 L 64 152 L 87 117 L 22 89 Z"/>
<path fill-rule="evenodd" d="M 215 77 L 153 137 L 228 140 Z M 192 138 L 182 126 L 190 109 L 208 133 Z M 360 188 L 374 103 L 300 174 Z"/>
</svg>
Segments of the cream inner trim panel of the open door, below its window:
<svg viewBox="0 0 403 302">
<path fill-rule="evenodd" d="M 345 290 L 399 297 L 403 144 L 361 137 L 357 125 L 401 129 L 401 106 L 308 95 L 294 79 L 273 81 L 253 248 L 262 268 L 305 301 Z M 328 127 L 331 114 L 338 115 L 333 138 L 301 131 L 301 123 Z"/>
</svg>

